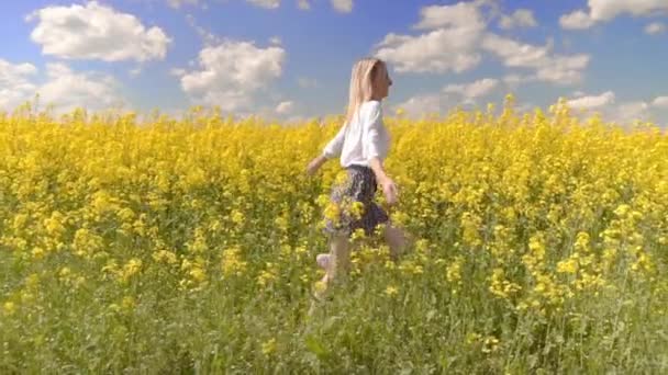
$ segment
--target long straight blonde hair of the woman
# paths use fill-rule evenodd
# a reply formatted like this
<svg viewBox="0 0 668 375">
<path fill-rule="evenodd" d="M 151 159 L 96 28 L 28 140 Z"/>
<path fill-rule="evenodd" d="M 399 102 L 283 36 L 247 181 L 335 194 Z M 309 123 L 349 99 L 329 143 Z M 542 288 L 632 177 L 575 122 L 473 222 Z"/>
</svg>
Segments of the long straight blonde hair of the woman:
<svg viewBox="0 0 668 375">
<path fill-rule="evenodd" d="M 355 63 L 345 123 L 352 122 L 361 103 L 371 99 L 374 81 L 381 69 L 387 69 L 385 61 L 376 57 L 365 57 Z"/>
</svg>

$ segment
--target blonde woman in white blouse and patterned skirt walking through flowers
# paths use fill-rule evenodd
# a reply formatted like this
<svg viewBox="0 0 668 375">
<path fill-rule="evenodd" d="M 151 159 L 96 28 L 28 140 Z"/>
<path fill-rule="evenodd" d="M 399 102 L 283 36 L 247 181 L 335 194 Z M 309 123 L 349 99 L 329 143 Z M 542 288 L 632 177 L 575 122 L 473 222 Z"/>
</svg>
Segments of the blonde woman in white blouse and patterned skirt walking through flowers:
<svg viewBox="0 0 668 375">
<path fill-rule="evenodd" d="M 394 205 L 399 198 L 397 185 L 383 168 L 390 135 L 382 122 L 381 101 L 388 96 L 391 84 L 385 61 L 367 57 L 355 63 L 345 123 L 322 155 L 307 167 L 307 172 L 313 175 L 325 161 L 339 157 L 341 166 L 346 170 L 347 179 L 335 183 L 331 194 L 335 205 L 345 207 L 338 219 L 325 219 L 330 253 L 316 257 L 318 264 L 326 272 L 322 280 L 325 285 L 349 271 L 349 236 L 356 229 L 361 228 L 370 236 L 383 224 L 383 237 L 393 260 L 408 246 L 407 234 L 392 226 L 386 211 L 374 202 L 377 185 L 381 186 L 389 205 Z M 357 215 L 350 206 L 357 207 Z"/>
</svg>

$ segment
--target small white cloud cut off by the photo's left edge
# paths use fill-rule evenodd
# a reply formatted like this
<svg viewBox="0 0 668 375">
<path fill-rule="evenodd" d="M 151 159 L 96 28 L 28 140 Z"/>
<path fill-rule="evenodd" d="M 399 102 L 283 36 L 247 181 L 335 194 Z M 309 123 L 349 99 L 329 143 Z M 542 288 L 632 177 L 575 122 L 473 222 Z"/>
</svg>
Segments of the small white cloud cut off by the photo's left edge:
<svg viewBox="0 0 668 375">
<path fill-rule="evenodd" d="M 35 92 L 31 78 L 37 68 L 32 64 L 16 64 L 0 59 L 0 111 L 13 110 Z"/>
</svg>

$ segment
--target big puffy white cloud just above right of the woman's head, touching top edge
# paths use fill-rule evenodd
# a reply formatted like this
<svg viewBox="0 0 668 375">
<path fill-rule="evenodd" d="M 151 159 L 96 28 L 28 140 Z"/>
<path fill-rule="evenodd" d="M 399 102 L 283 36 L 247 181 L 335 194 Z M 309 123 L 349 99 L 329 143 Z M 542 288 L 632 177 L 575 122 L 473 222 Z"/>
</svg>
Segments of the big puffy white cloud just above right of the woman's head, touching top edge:
<svg viewBox="0 0 668 375">
<path fill-rule="evenodd" d="M 431 5 L 414 25 L 417 36 L 388 34 L 376 45 L 376 56 L 394 64 L 399 72 L 461 72 L 480 63 L 477 50 L 486 23 L 480 1 Z"/>
</svg>

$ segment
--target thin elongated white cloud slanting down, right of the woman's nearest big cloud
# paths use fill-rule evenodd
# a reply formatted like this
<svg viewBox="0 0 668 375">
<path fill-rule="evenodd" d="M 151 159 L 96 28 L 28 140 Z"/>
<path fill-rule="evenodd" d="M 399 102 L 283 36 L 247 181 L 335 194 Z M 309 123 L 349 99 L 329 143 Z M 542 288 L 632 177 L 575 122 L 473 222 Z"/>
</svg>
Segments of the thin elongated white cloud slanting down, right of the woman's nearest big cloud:
<svg viewBox="0 0 668 375">
<path fill-rule="evenodd" d="M 535 70 L 524 80 L 537 80 L 556 84 L 570 84 L 581 80 L 582 70 L 589 65 L 590 56 L 586 54 L 563 56 L 552 53 L 553 43 L 545 46 L 515 42 L 496 34 L 487 34 L 482 48 L 501 58 L 506 67 L 528 68 Z M 519 81 L 515 80 L 515 83 Z"/>
</svg>

